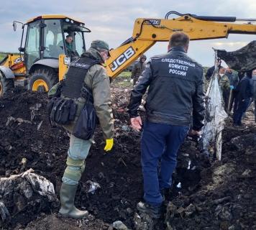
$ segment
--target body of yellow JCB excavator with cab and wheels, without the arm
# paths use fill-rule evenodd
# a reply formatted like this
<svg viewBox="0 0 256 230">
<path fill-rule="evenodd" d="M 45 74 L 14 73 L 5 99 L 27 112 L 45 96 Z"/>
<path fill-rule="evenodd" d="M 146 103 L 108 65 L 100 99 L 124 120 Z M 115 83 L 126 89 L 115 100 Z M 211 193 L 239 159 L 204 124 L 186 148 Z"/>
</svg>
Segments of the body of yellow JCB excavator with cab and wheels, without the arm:
<svg viewBox="0 0 256 230">
<path fill-rule="evenodd" d="M 14 31 L 17 24 L 22 24 L 19 55 L 6 55 L 0 62 L 0 96 L 18 82 L 32 91 L 48 91 L 63 78 L 70 59 L 86 50 L 85 33 L 91 32 L 64 15 L 42 15 L 25 24 L 14 21 Z M 66 36 L 73 39 L 71 48 Z"/>
</svg>

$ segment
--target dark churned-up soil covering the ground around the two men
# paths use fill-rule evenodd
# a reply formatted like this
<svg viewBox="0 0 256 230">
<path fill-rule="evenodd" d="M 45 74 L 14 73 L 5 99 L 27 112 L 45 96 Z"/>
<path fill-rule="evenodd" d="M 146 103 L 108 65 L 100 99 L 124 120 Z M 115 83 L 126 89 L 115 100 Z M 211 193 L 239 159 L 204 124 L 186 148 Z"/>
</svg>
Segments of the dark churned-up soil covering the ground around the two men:
<svg viewBox="0 0 256 230">
<path fill-rule="evenodd" d="M 9 200 L 5 205 L 12 218 L 0 220 L 2 229 L 111 229 L 117 220 L 136 229 L 134 213 L 143 195 L 140 133 L 129 127 L 129 88 L 113 88 L 112 95 L 114 149 L 104 153 L 104 139 L 97 130 L 76 195 L 76 206 L 91 216 L 81 221 L 62 218 L 58 207 L 38 199 L 17 213 L 16 203 Z M 63 129 L 50 126 L 46 106 L 45 94 L 22 88 L 0 98 L 0 177 L 32 168 L 50 180 L 59 195 L 69 139 Z M 193 142 L 183 144 L 167 196 L 168 212 L 152 229 L 256 229 L 256 126 L 250 119 L 246 124 L 237 130 L 227 123 L 221 161 L 202 157 Z M 27 158 L 25 167 L 22 158 Z M 86 193 L 88 180 L 101 188 Z"/>
</svg>

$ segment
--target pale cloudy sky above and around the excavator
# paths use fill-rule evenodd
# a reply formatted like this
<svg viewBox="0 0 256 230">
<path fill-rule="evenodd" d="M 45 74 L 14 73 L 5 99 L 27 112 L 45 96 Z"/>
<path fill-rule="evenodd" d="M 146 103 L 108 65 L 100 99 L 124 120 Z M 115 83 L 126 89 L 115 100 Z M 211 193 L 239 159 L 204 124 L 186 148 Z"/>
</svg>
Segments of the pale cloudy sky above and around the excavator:
<svg viewBox="0 0 256 230">
<path fill-rule="evenodd" d="M 63 0 L 63 1 L 2 1 L 0 8 L 0 51 L 17 52 L 22 29 L 14 32 L 14 20 L 26 22 L 27 19 L 42 14 L 64 14 L 80 19 L 91 29 L 86 37 L 86 46 L 92 40 L 100 39 L 109 42 L 110 47 L 119 46 L 132 36 L 135 19 L 139 17 L 164 19 L 165 14 L 175 10 L 182 14 L 190 13 L 207 16 L 234 16 L 238 18 L 256 18 L 256 0 Z M 228 39 L 192 41 L 188 55 L 204 66 L 214 63 L 214 52 L 211 47 L 228 51 L 237 50 L 256 40 L 255 35 L 229 35 Z M 146 52 L 148 57 L 163 53 L 167 42 L 157 42 Z"/>
</svg>

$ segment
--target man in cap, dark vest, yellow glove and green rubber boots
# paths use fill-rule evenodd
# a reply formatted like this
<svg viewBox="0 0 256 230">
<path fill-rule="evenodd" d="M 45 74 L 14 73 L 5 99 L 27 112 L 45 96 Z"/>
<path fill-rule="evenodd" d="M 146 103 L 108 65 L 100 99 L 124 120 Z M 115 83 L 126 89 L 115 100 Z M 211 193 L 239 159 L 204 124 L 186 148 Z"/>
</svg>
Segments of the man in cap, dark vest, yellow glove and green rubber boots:
<svg viewBox="0 0 256 230">
<path fill-rule="evenodd" d="M 96 115 L 99 118 L 99 123 L 101 129 L 104 133 L 104 138 L 106 139 L 105 151 L 111 150 L 113 147 L 113 129 L 114 129 L 114 119 L 112 115 L 112 110 L 110 107 L 111 97 L 110 97 L 110 83 L 109 77 L 106 75 L 106 70 L 103 66 L 105 60 L 109 56 L 109 45 L 104 41 L 96 40 L 91 43 L 90 49 L 84 52 L 80 59 L 78 60 L 79 65 L 88 65 L 88 62 L 95 61 L 96 64 L 88 68 L 86 75 L 81 75 L 83 73 L 81 68 L 70 67 L 65 75 L 64 86 L 68 85 L 68 77 L 74 78 L 76 80 L 80 77 L 83 79 L 83 83 L 92 91 L 93 95 L 93 106 L 96 110 Z M 73 71 L 72 73 L 70 73 Z M 68 149 L 68 158 L 66 161 L 67 167 L 63 175 L 63 184 L 60 188 L 60 203 L 61 208 L 59 213 L 63 216 L 68 216 L 71 218 L 83 218 L 88 214 L 88 211 L 81 211 L 74 206 L 74 200 L 76 195 L 76 190 L 78 187 L 78 182 L 81 179 L 81 175 L 85 170 L 85 160 L 88 155 L 89 149 L 92 144 L 92 139 L 84 140 L 75 137 L 73 133 L 73 128 L 78 119 L 78 115 L 83 109 L 86 103 L 86 99 L 81 96 L 81 86 L 80 88 L 68 88 L 70 96 L 64 95 L 62 91 L 62 98 L 74 98 L 76 96 L 75 103 L 78 104 L 78 110 L 76 112 L 76 119 L 68 125 L 63 125 L 63 127 L 70 133 L 70 146 Z M 51 89 L 54 93 L 54 88 Z M 51 94 L 51 91 L 49 94 Z M 72 95 L 73 94 L 73 95 Z"/>
</svg>

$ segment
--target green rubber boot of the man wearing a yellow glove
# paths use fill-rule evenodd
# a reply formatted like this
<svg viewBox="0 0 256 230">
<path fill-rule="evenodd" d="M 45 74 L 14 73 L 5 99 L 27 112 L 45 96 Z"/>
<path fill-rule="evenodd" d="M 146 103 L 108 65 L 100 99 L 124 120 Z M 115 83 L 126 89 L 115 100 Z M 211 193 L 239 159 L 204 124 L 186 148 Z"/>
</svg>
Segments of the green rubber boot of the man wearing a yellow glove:
<svg viewBox="0 0 256 230">
<path fill-rule="evenodd" d="M 74 201 L 78 185 L 67 185 L 63 183 L 60 188 L 61 208 L 59 213 L 65 217 L 83 218 L 88 215 L 88 211 L 81 211 L 75 207 Z"/>
</svg>

